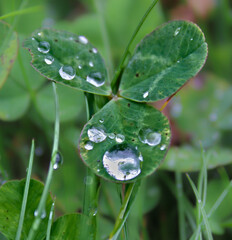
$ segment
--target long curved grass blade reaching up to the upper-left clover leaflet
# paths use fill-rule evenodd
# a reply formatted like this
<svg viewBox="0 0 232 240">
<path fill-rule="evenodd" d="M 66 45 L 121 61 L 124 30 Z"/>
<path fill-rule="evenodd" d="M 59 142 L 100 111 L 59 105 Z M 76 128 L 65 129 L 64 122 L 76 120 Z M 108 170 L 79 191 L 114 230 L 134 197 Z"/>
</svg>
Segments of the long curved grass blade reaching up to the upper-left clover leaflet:
<svg viewBox="0 0 232 240">
<path fill-rule="evenodd" d="M 49 188 L 52 180 L 52 175 L 53 175 L 53 165 L 55 164 L 56 161 L 56 153 L 58 151 L 58 143 L 59 143 L 59 131 L 60 131 L 60 120 L 59 120 L 59 101 L 58 101 L 58 95 L 56 92 L 56 84 L 53 82 L 53 91 L 54 91 L 54 96 L 55 96 L 55 105 L 56 105 L 56 120 L 55 120 L 55 131 L 54 131 L 54 141 L 53 141 L 53 149 L 52 149 L 52 156 L 51 156 L 51 161 L 49 165 L 49 170 L 48 170 L 48 175 L 46 179 L 46 183 L 44 186 L 44 190 L 39 202 L 39 206 L 37 208 L 37 214 L 35 216 L 34 222 L 32 223 L 32 227 L 30 229 L 28 239 L 27 240 L 32 240 L 35 236 L 36 231 L 39 228 L 39 225 L 41 223 L 41 215 L 43 211 L 45 210 L 45 205 L 49 193 Z"/>
</svg>

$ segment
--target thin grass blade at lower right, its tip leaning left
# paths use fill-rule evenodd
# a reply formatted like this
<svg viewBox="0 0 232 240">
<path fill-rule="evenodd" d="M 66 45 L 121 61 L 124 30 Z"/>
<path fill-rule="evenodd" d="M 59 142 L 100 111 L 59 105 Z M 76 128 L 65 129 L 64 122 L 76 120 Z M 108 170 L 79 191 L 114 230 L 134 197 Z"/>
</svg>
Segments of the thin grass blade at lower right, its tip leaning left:
<svg viewBox="0 0 232 240">
<path fill-rule="evenodd" d="M 205 223 L 205 227 L 206 227 L 206 233 L 207 233 L 208 240 L 213 240 L 213 236 L 212 236 L 212 233 L 211 233 L 211 229 L 210 229 L 210 225 L 209 225 L 209 222 L 208 222 L 208 219 L 207 219 L 207 215 L 206 215 L 204 206 L 202 204 L 202 201 L 200 199 L 199 193 L 197 191 L 197 188 L 196 188 L 194 182 L 192 181 L 192 179 L 190 178 L 190 176 L 188 174 L 186 174 L 186 176 L 187 176 L 187 178 L 189 180 L 189 183 L 190 183 L 190 185 L 193 189 L 195 197 L 196 197 L 196 199 L 199 203 L 200 211 L 201 211 L 201 214 L 202 214 L 202 217 L 203 217 L 203 220 L 204 220 L 204 223 Z"/>
</svg>

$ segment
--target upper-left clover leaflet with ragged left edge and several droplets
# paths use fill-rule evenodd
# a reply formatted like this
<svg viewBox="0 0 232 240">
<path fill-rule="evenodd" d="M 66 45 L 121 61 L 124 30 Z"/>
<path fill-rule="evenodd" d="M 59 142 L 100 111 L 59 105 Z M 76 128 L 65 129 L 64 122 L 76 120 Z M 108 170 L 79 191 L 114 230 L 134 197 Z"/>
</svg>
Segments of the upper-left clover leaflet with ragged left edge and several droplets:
<svg viewBox="0 0 232 240">
<path fill-rule="evenodd" d="M 24 42 L 33 67 L 50 80 L 99 95 L 110 95 L 104 62 L 84 36 L 37 30 Z"/>
</svg>

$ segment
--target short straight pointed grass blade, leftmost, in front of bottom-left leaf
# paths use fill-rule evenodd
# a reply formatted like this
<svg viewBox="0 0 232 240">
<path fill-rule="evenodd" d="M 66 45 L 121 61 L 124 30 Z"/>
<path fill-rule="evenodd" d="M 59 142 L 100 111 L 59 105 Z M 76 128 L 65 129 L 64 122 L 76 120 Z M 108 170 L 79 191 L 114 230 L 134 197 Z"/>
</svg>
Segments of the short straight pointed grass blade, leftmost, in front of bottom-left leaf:
<svg viewBox="0 0 232 240">
<path fill-rule="evenodd" d="M 25 216 L 25 212 L 26 212 L 27 197 L 28 197 L 28 192 L 29 192 L 31 172 L 32 172 L 32 166 L 33 166 L 33 160 L 34 160 L 34 153 L 35 153 L 35 142 L 34 142 L 34 140 L 32 140 L 31 153 L 30 153 L 29 165 L 28 165 L 28 170 L 27 170 L 27 178 L 26 178 L 24 194 L 23 194 L 22 208 L 21 208 L 21 212 L 20 212 L 19 224 L 18 224 L 18 229 L 17 229 L 15 240 L 20 240 L 21 232 L 22 232 L 22 228 L 23 228 L 23 221 L 24 221 L 24 216 Z"/>
</svg>

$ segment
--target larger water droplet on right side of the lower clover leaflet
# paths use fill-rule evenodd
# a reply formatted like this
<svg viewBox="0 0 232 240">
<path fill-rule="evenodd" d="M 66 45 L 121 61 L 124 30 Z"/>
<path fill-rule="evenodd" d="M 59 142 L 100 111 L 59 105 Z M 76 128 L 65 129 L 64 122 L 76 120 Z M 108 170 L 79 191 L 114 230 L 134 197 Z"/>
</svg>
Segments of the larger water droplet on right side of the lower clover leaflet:
<svg viewBox="0 0 232 240">
<path fill-rule="evenodd" d="M 148 144 L 149 146 L 156 146 L 161 142 L 161 134 L 152 131 L 149 128 L 144 128 L 139 131 L 139 140 L 144 143 Z"/>
</svg>

